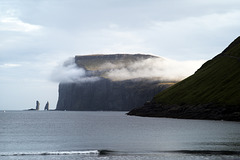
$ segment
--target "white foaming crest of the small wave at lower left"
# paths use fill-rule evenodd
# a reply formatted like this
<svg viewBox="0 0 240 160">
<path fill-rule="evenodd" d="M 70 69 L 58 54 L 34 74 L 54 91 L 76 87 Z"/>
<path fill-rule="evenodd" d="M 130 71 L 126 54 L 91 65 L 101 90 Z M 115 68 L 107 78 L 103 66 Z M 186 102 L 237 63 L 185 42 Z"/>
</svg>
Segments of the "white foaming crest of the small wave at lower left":
<svg viewBox="0 0 240 160">
<path fill-rule="evenodd" d="M 19 153 L 2 153 L 0 156 L 31 156 L 31 155 L 99 155 L 98 150 L 88 151 L 53 151 L 53 152 L 19 152 Z"/>
</svg>

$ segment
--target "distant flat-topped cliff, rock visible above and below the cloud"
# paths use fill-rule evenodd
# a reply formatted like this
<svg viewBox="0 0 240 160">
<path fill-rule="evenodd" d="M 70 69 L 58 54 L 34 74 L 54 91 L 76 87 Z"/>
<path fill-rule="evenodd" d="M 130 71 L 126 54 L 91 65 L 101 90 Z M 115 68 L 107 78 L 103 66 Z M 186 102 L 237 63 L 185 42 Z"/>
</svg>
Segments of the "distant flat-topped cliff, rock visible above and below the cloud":
<svg viewBox="0 0 240 160">
<path fill-rule="evenodd" d="M 148 58 L 159 57 L 142 54 L 76 56 L 75 63 L 85 69 L 87 76 L 100 79 L 94 82 L 60 83 L 56 110 L 129 111 L 142 106 L 174 83 L 152 79 L 110 79 L 106 73 L 112 69 L 112 65 L 103 67 L 103 64 L 127 68 L 131 63 Z"/>
</svg>

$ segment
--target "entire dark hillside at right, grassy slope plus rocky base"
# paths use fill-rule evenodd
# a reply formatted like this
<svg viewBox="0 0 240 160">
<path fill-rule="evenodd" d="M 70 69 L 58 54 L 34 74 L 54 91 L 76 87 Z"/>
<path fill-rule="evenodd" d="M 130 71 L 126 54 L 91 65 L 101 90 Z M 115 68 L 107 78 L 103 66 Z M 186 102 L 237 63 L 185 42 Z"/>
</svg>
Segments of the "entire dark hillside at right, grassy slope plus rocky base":
<svg viewBox="0 0 240 160">
<path fill-rule="evenodd" d="M 194 75 L 128 115 L 240 121 L 240 37 Z"/>
</svg>

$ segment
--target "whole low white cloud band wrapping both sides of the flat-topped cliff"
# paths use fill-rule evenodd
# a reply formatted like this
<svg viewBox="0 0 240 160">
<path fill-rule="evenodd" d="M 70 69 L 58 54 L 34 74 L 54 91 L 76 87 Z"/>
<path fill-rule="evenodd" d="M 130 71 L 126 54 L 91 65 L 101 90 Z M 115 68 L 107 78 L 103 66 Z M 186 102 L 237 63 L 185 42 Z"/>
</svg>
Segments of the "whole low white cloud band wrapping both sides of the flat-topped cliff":
<svg viewBox="0 0 240 160">
<path fill-rule="evenodd" d="M 149 58 L 127 65 L 124 63 L 105 63 L 98 68 L 97 73 L 115 81 L 139 78 L 180 81 L 192 75 L 204 62 L 204 60 L 176 61 L 166 58 Z M 69 58 L 57 66 L 51 75 L 51 80 L 62 83 L 94 82 L 99 79 L 100 77 L 94 72 L 89 74 L 85 69 L 78 67 L 74 58 Z"/>
</svg>

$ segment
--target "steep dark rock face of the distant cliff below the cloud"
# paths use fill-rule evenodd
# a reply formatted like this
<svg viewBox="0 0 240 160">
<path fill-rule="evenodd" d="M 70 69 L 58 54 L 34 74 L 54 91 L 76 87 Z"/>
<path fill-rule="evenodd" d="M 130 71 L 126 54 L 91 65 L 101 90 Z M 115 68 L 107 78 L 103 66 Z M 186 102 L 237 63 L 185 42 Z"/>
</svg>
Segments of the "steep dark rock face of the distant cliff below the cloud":
<svg viewBox="0 0 240 160">
<path fill-rule="evenodd" d="M 158 81 L 100 79 L 96 82 L 60 83 L 57 110 L 129 111 L 150 101 L 171 84 Z"/>
</svg>

